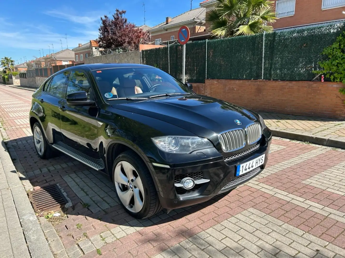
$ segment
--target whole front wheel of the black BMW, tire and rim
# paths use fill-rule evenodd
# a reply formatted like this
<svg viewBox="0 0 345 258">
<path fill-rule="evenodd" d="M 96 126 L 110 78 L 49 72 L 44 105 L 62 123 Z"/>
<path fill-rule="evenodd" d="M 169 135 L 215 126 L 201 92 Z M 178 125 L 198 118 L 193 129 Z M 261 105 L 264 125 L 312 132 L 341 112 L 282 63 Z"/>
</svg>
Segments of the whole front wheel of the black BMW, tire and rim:
<svg viewBox="0 0 345 258">
<path fill-rule="evenodd" d="M 150 172 L 135 152 L 125 151 L 115 159 L 112 179 L 120 204 L 132 217 L 143 219 L 161 211 Z"/>
</svg>

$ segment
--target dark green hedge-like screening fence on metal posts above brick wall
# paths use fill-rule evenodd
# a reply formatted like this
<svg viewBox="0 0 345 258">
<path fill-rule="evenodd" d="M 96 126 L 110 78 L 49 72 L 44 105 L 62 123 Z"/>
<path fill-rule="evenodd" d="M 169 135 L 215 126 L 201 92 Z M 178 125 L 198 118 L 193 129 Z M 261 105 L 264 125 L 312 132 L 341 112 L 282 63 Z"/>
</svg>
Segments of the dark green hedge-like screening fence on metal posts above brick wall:
<svg viewBox="0 0 345 258">
<path fill-rule="evenodd" d="M 344 23 L 336 23 L 275 31 L 265 36 L 256 34 L 189 42 L 186 45 L 186 81 L 203 83 L 205 78 L 312 80 L 315 77 L 312 71 L 320 69 L 317 63 L 323 57 L 321 52 L 344 29 Z M 142 63 L 181 78 L 182 46 L 173 44 L 144 50 Z"/>
</svg>

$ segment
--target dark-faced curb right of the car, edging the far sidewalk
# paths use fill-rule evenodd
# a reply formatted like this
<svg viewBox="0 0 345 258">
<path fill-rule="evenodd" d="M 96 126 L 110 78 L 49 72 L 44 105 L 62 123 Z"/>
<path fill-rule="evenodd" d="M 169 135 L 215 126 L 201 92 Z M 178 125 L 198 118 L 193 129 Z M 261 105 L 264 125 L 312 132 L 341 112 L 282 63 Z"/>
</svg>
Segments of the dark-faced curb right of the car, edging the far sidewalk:
<svg viewBox="0 0 345 258">
<path fill-rule="evenodd" d="M 322 136 L 313 136 L 307 133 L 295 133 L 285 130 L 271 129 L 272 136 L 285 138 L 289 140 L 297 140 L 302 142 L 310 142 L 321 146 L 327 146 L 331 148 L 339 148 L 345 150 L 345 141 L 332 138 L 326 138 Z"/>
</svg>

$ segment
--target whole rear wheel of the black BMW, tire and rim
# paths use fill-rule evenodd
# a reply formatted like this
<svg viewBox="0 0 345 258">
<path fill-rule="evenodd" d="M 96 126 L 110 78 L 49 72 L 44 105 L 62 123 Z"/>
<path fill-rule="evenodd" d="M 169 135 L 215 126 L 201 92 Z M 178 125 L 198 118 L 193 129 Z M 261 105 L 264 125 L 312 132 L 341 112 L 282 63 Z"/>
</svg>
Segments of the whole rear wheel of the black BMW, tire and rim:
<svg viewBox="0 0 345 258">
<path fill-rule="evenodd" d="M 36 153 L 41 159 L 50 159 L 54 157 L 54 151 L 50 147 L 38 122 L 34 123 L 32 127 L 32 137 Z"/>
</svg>

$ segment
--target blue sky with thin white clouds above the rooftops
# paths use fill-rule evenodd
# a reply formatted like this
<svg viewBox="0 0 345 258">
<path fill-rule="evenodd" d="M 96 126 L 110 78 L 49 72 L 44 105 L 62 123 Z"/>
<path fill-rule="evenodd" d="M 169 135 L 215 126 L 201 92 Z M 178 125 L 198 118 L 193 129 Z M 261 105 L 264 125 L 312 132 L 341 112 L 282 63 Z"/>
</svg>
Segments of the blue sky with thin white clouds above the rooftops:
<svg viewBox="0 0 345 258">
<path fill-rule="evenodd" d="M 202 0 L 193 0 L 193 9 Z M 0 13 L 0 58 L 12 57 L 17 61 L 39 57 L 39 50 L 49 54 L 49 44 L 54 52 L 97 39 L 100 17 L 111 16 L 116 8 L 126 10 L 126 18 L 136 25 L 157 25 L 167 16 L 174 17 L 190 10 L 190 0 L 59 0 L 59 1 L 2 1 Z M 6 11 L 5 11 L 6 10 Z M 42 51 L 43 49 L 43 51 Z M 52 53 L 52 46 L 50 45 Z"/>
</svg>

